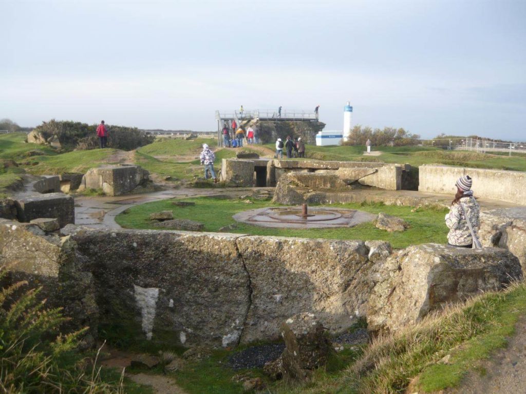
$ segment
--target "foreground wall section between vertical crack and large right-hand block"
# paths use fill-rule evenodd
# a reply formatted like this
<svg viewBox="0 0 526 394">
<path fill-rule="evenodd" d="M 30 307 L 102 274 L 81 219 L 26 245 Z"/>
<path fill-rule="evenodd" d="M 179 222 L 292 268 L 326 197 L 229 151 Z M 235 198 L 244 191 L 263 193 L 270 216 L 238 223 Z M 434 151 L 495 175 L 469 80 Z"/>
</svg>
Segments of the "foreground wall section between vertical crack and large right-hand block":
<svg viewBox="0 0 526 394">
<path fill-rule="evenodd" d="M 241 342 L 278 339 L 284 320 L 306 310 L 331 333 L 365 315 L 372 266 L 362 241 L 241 236 L 251 304 Z"/>
</svg>

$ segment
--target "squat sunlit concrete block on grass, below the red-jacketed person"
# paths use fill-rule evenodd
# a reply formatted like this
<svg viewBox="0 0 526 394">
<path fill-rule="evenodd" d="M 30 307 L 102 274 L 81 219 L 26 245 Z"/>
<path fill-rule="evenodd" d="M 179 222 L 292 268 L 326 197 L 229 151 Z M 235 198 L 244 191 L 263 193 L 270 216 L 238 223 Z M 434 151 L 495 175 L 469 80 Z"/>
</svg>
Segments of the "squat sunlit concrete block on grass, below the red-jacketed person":
<svg viewBox="0 0 526 394">
<path fill-rule="evenodd" d="M 89 169 L 78 190 L 102 189 L 107 195 L 121 195 L 148 181 L 148 171 L 139 165 L 106 165 Z"/>
</svg>

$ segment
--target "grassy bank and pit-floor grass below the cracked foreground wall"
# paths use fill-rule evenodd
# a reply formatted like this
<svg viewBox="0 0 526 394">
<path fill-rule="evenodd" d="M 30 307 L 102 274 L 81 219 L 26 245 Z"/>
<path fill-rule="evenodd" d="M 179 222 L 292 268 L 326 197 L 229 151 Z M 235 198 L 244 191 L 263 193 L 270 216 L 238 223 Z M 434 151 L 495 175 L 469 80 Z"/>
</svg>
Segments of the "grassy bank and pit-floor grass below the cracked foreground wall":
<svg viewBox="0 0 526 394">
<path fill-rule="evenodd" d="M 525 283 L 514 284 L 504 292 L 482 294 L 466 304 L 430 315 L 396 334 L 377 337 L 370 344 L 345 345 L 325 368 L 316 370 L 310 381 L 299 386 L 284 381 L 271 382 L 257 368 L 231 369 L 228 357 L 246 346 L 216 350 L 210 358 L 189 362 L 169 374 L 189 394 L 242 393 L 241 384 L 235 381 L 239 375 L 261 377 L 268 385 L 266 392 L 274 394 L 394 394 L 406 392 L 410 384 L 411 392 L 436 392 L 459 386 L 468 371 L 483 374 L 481 361 L 506 346 L 524 310 Z M 134 347 L 151 354 L 157 354 L 160 349 L 132 344 Z M 182 351 L 173 350 L 178 354 Z M 441 362 L 447 355 L 450 356 L 447 364 Z M 158 368 L 149 373 L 163 374 L 164 371 Z"/>
</svg>

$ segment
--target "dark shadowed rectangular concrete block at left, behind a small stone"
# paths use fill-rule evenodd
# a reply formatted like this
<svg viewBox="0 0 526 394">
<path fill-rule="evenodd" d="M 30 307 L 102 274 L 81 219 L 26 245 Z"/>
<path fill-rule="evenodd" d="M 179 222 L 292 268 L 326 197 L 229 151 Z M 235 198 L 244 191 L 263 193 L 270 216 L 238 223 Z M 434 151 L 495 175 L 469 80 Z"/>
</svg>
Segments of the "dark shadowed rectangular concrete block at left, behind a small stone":
<svg viewBox="0 0 526 394">
<path fill-rule="evenodd" d="M 21 222 L 51 217 L 58 220 L 60 227 L 75 223 L 75 201 L 63 193 L 32 194 L 16 199 L 15 204 Z"/>
</svg>

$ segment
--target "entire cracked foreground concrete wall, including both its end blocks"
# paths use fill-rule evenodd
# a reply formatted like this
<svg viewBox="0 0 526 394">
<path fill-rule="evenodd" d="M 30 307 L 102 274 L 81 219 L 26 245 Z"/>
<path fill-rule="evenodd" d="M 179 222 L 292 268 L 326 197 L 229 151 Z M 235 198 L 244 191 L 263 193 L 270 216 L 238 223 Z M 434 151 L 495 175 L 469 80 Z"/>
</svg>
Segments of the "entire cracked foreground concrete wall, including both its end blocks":
<svg viewBox="0 0 526 394">
<path fill-rule="evenodd" d="M 43 285 L 43 296 L 77 325 L 94 329 L 99 321 L 171 345 L 277 339 L 280 324 L 302 312 L 330 333 L 366 314 L 372 329 L 396 330 L 522 276 L 517 257 L 497 248 L 426 244 L 391 255 L 380 241 L 74 225 L 62 233 L 0 221 L 8 279 Z"/>
</svg>

